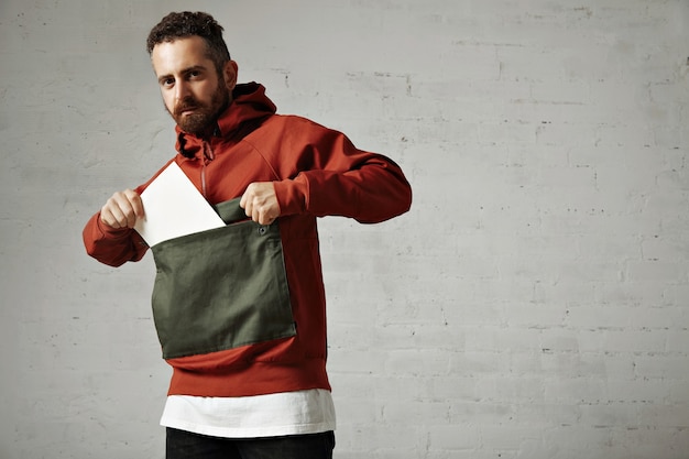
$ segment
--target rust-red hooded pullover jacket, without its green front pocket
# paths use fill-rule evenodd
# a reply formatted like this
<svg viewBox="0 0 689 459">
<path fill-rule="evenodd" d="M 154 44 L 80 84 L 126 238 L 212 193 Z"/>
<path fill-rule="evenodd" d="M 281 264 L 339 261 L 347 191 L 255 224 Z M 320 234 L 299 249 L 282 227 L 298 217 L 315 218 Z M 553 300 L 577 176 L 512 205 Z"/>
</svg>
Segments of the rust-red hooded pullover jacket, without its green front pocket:
<svg viewBox="0 0 689 459">
<path fill-rule="evenodd" d="M 304 118 L 275 114 L 264 87 L 255 83 L 237 86 L 216 134 L 200 139 L 177 128 L 178 154 L 171 162 L 211 205 L 241 196 L 251 183 L 274 183 L 297 334 L 168 359 L 173 367 L 168 394 L 247 396 L 329 390 L 316 217 L 343 216 L 363 223 L 393 218 L 409 209 L 409 184 L 392 160 L 358 150 L 342 133 Z M 138 261 L 149 249 L 134 230 L 105 226 L 100 214 L 87 222 L 84 243 L 88 254 L 112 266 Z"/>
</svg>

